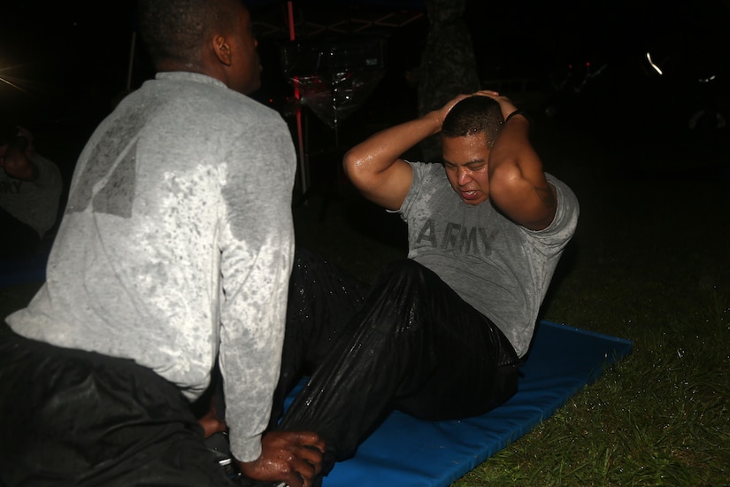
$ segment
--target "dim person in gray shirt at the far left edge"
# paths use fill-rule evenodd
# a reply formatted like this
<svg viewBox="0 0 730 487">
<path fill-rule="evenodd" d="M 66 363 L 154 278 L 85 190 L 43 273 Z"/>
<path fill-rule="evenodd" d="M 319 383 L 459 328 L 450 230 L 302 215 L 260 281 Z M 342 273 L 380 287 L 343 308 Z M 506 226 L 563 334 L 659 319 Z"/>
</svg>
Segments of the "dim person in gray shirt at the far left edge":
<svg viewBox="0 0 730 487">
<path fill-rule="evenodd" d="M 33 135 L 14 124 L 0 128 L 0 258 L 35 252 L 58 221 L 63 178 L 42 157 Z"/>
</svg>

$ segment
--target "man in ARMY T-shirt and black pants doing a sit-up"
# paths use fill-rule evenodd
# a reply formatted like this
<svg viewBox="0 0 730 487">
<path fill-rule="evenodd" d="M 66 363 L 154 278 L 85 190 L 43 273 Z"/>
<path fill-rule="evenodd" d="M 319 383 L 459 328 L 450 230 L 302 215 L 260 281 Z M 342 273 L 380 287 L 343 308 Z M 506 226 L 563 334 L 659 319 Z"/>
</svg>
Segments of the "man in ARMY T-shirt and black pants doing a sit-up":
<svg viewBox="0 0 730 487">
<path fill-rule="evenodd" d="M 579 213 L 572 190 L 543 172 L 529 131 L 509 98 L 484 90 L 345 155 L 357 189 L 406 221 L 409 251 L 368 288 L 297 249 L 270 428 L 317 432 L 327 445 L 325 474 L 394 409 L 459 419 L 517 391 Z M 401 158 L 434 134 L 442 160 Z M 303 375 L 311 376 L 284 412 Z"/>
</svg>

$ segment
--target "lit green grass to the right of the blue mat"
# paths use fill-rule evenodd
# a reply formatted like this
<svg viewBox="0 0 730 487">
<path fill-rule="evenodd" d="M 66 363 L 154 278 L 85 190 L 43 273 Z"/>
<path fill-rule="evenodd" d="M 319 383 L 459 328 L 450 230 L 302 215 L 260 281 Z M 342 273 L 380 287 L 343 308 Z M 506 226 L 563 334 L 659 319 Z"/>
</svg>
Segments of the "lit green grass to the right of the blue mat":
<svg viewBox="0 0 730 487">
<path fill-rule="evenodd" d="M 456 485 L 726 484 L 728 304 L 711 295 L 688 319 L 642 313 L 616 323 L 634 354 Z"/>
</svg>

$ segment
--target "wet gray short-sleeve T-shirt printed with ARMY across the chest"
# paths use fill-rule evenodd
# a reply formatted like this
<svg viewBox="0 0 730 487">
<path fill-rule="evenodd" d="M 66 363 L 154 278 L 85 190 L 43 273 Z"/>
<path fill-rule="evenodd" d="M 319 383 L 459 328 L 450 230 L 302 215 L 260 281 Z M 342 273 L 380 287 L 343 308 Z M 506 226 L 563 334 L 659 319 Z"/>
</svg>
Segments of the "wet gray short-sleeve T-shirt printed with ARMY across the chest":
<svg viewBox="0 0 730 487">
<path fill-rule="evenodd" d="M 408 257 L 494 321 L 522 357 L 529 348 L 550 279 L 578 221 L 578 200 L 546 174 L 557 191 L 548 228 L 533 231 L 486 201 L 466 205 L 441 164 L 411 163 L 413 182 L 399 210 L 408 223 Z"/>
</svg>

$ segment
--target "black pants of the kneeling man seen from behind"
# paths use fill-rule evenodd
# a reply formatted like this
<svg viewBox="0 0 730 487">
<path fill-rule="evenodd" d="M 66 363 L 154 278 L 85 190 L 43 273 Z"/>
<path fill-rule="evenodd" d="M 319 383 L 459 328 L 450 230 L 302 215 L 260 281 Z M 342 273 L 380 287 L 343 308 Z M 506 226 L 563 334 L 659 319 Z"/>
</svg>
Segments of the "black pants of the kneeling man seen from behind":
<svg viewBox="0 0 730 487">
<path fill-rule="evenodd" d="M 234 485 L 180 390 L 132 360 L 0 336 L 0 485 Z"/>
</svg>

